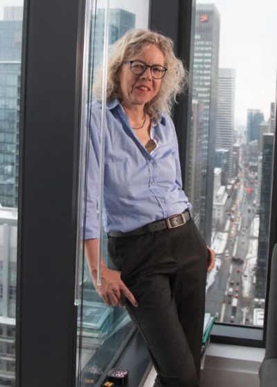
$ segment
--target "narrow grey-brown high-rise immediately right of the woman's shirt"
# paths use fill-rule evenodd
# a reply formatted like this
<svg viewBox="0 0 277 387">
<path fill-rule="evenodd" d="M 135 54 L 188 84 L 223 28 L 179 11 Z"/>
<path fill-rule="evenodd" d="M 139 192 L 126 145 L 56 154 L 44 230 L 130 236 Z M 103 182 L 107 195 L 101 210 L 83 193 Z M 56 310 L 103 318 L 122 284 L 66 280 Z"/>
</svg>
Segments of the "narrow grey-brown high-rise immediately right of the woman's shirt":
<svg viewBox="0 0 277 387">
<path fill-rule="evenodd" d="M 204 129 L 203 106 L 193 99 L 190 135 L 190 174 L 188 177 L 188 197 L 193 205 L 192 215 L 196 226 L 200 222 L 200 197 L 202 185 L 202 138 Z"/>
</svg>

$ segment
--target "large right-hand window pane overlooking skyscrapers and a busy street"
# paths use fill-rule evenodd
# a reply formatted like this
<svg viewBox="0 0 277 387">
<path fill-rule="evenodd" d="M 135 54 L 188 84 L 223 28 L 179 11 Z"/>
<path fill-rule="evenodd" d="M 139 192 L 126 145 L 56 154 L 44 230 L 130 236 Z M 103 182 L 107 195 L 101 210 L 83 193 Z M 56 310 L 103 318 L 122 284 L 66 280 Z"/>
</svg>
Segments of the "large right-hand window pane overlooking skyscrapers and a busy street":
<svg viewBox="0 0 277 387">
<path fill-rule="evenodd" d="M 216 252 L 206 310 L 219 322 L 262 327 L 276 128 L 277 6 L 267 0 L 249 18 L 249 8 L 235 4 L 204 0 L 196 6 L 188 197 L 199 231 Z"/>
</svg>

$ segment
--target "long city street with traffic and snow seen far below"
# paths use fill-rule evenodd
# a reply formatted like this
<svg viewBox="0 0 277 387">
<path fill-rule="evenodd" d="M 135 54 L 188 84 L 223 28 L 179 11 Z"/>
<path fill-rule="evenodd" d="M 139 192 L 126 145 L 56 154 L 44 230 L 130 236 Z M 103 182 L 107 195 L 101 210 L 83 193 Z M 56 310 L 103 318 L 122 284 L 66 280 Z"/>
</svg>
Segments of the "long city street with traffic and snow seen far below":
<svg viewBox="0 0 277 387">
<path fill-rule="evenodd" d="M 230 224 L 229 230 L 226 230 L 226 227 L 225 230 L 224 227 L 220 230 L 222 233 L 228 232 L 225 251 L 216 254 L 217 268 L 214 269 L 215 272 L 208 273 L 208 277 L 211 276 L 211 278 L 207 281 L 206 311 L 214 315 L 218 313 L 217 321 L 220 322 L 252 324 L 253 275 L 249 276 L 249 272 L 244 269 L 247 267 L 245 259 L 251 249 L 251 240 L 253 242 L 253 239 L 258 239 L 258 236 L 251 234 L 251 229 L 254 229 L 251 225 L 255 217 L 257 187 L 256 177 L 248 173 L 244 165 L 241 165 L 239 176 L 227 205 L 227 211 L 231 212 L 232 208 L 234 209 L 231 212 L 234 220 L 230 222 L 231 215 L 226 215 L 227 227 Z M 216 234 L 215 238 L 217 238 Z M 229 254 L 225 254 L 226 250 Z M 238 258 L 238 261 L 233 260 L 233 257 Z M 243 289 L 243 286 L 246 288 Z M 229 291 L 230 288 L 233 290 Z M 235 296 L 238 297 L 238 306 L 232 306 Z M 232 319 L 231 316 L 233 316 Z"/>
</svg>

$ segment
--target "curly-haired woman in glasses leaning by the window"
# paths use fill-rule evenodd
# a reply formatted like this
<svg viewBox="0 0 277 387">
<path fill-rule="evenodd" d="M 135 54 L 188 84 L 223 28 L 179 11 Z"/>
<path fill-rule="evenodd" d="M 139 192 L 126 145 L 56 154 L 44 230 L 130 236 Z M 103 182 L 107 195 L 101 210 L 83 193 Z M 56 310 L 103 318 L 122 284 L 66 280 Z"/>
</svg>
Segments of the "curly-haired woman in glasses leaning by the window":
<svg viewBox="0 0 277 387">
<path fill-rule="evenodd" d="M 91 106 L 85 254 L 93 283 L 108 305 L 125 306 L 148 345 L 155 386 L 198 385 L 206 272 L 215 253 L 206 246 L 181 190 L 172 101 L 186 72 L 172 41 L 134 30 L 114 44 L 107 80 L 104 225 L 118 271 L 102 261 L 96 285 L 101 122 L 99 72 Z"/>
</svg>

